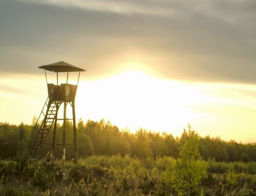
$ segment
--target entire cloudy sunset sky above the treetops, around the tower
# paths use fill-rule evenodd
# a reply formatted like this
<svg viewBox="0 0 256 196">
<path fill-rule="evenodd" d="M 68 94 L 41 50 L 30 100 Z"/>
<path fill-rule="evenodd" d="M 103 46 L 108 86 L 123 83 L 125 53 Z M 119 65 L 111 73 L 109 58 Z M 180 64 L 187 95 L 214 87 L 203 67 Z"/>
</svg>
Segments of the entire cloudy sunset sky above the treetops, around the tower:
<svg viewBox="0 0 256 196">
<path fill-rule="evenodd" d="M 30 124 L 63 60 L 87 70 L 77 119 L 255 142 L 255 21 L 250 0 L 1 0 L 0 121 Z"/>
</svg>

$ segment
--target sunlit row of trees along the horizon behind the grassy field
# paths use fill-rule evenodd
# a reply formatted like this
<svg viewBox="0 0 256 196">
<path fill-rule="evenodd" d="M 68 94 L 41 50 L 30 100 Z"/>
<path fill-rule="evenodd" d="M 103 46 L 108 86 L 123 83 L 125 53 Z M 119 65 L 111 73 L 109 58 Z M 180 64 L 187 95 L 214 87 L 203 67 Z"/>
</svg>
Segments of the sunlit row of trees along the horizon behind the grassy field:
<svg viewBox="0 0 256 196">
<path fill-rule="evenodd" d="M 35 134 L 33 124 L 0 123 L 0 157 L 9 158 L 15 156 L 18 151 L 24 151 Z M 51 151 L 52 137 L 51 131 L 40 152 L 40 157 L 44 157 L 48 151 Z M 138 129 L 136 133 L 131 133 L 127 129 L 120 130 L 110 121 L 105 122 L 103 119 L 99 122 L 88 120 L 86 123 L 80 119 L 77 123 L 78 156 L 80 158 L 91 155 L 130 155 L 137 158 L 170 156 L 177 159 L 180 147 L 187 139 L 188 132 L 185 129 L 180 137 L 174 137 L 170 133 L 160 134 L 143 128 Z M 61 140 L 62 126 L 57 124 L 56 142 L 61 144 Z M 74 157 L 73 140 L 73 125 L 67 121 L 67 159 Z M 256 143 L 238 143 L 234 140 L 224 141 L 220 137 L 199 136 L 199 151 L 205 160 L 256 161 Z M 61 158 L 61 145 L 56 146 L 54 156 Z"/>
</svg>

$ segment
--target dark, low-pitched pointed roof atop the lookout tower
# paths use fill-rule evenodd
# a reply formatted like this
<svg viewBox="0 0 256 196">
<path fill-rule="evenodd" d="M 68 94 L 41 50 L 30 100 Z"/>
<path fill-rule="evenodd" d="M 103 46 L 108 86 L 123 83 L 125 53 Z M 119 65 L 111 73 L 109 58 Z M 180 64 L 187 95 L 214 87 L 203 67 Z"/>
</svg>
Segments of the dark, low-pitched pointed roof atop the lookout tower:
<svg viewBox="0 0 256 196">
<path fill-rule="evenodd" d="M 46 66 L 40 66 L 38 68 L 47 70 L 50 72 L 84 72 L 84 71 L 86 71 L 81 68 L 72 66 L 72 64 L 69 64 L 64 61 L 47 64 Z"/>
</svg>

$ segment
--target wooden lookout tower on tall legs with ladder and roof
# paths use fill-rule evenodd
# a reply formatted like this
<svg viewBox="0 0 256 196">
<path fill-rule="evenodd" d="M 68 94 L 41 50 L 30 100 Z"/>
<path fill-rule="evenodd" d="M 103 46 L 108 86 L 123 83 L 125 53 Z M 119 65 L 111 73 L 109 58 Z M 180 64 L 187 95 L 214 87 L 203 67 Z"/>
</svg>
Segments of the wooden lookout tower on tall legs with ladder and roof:
<svg viewBox="0 0 256 196">
<path fill-rule="evenodd" d="M 62 159 L 65 160 L 66 156 L 66 120 L 73 120 L 73 130 L 74 130 L 74 146 L 75 146 L 75 163 L 77 163 L 78 152 L 77 152 L 77 141 L 76 141 L 76 117 L 75 117 L 75 96 L 77 85 L 79 81 L 80 72 L 85 70 L 72 66 L 67 62 L 55 62 L 52 64 L 47 64 L 46 66 L 39 67 L 40 69 L 45 70 L 47 88 L 48 88 L 48 98 L 45 102 L 44 107 L 42 108 L 41 114 L 36 122 L 35 130 L 37 131 L 37 136 L 33 141 L 33 144 L 30 144 L 29 155 L 31 158 L 37 158 L 42 145 L 45 143 L 46 138 L 50 132 L 52 125 L 54 124 L 53 128 L 53 141 L 52 141 L 52 155 L 54 155 L 54 147 L 55 145 L 62 145 L 63 148 L 63 156 Z M 55 72 L 57 85 L 53 83 L 48 83 L 46 71 Z M 58 84 L 58 73 L 59 72 L 66 72 L 67 73 L 67 81 L 66 83 Z M 77 84 L 69 84 L 69 72 L 79 72 Z M 63 104 L 64 112 L 63 112 L 63 119 L 59 119 L 58 111 L 59 108 Z M 67 119 L 67 105 L 70 104 L 72 107 L 73 119 Z M 44 112 L 45 111 L 45 112 Z M 43 120 L 40 124 L 39 119 L 43 117 Z M 56 125 L 58 120 L 63 120 L 63 140 L 62 144 L 55 142 L 55 135 L 56 135 Z"/>
</svg>

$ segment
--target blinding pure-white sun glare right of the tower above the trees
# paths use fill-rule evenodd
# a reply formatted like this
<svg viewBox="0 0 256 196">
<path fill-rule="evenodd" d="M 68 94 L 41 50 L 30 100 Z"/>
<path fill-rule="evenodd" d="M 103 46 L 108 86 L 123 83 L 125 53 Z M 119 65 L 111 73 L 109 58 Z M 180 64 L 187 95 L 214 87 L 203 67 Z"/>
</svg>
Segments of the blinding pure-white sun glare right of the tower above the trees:
<svg viewBox="0 0 256 196">
<path fill-rule="evenodd" d="M 104 118 L 120 128 L 129 126 L 132 132 L 143 127 L 179 135 L 176 130 L 199 117 L 186 104 L 196 103 L 200 97 L 195 98 L 195 91 L 194 96 L 189 94 L 187 84 L 158 79 L 141 69 L 127 70 L 101 80 L 82 81 L 76 98 L 81 106 L 77 114 L 83 119 Z"/>
</svg>

